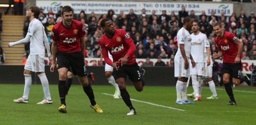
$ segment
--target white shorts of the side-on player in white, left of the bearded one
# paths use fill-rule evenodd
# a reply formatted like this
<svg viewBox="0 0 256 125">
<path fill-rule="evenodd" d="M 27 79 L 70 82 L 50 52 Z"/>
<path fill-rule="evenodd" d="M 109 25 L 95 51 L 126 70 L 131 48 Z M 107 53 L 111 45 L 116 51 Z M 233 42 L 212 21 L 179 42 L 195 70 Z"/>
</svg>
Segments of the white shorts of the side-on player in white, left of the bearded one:
<svg viewBox="0 0 256 125">
<path fill-rule="evenodd" d="M 187 58 L 189 61 L 189 58 Z M 189 64 L 189 63 L 188 63 Z M 185 61 L 183 57 L 176 57 L 174 58 L 174 76 L 175 77 L 189 77 L 190 76 L 190 68 L 185 70 Z"/>
</svg>

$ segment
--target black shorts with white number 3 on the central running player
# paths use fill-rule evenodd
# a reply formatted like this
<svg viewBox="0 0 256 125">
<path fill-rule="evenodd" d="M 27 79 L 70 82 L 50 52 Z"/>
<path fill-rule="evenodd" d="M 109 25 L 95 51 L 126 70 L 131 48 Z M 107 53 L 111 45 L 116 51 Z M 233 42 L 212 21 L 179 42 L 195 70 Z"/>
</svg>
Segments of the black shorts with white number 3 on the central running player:
<svg viewBox="0 0 256 125">
<path fill-rule="evenodd" d="M 129 79 L 131 79 L 132 82 L 140 82 L 141 78 L 140 76 L 142 75 L 140 73 L 140 67 L 138 66 L 137 63 L 134 63 L 132 65 L 123 65 L 123 66 L 118 66 L 118 70 L 116 71 L 114 69 L 113 71 L 113 76 L 116 79 L 118 78 L 125 78 L 128 75 Z"/>
</svg>

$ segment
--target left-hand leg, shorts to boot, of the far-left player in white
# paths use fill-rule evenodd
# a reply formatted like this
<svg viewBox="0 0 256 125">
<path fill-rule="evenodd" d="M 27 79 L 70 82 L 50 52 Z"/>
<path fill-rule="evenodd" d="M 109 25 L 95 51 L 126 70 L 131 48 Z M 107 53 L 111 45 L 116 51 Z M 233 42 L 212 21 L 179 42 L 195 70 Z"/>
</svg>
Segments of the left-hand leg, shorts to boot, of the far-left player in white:
<svg viewBox="0 0 256 125">
<path fill-rule="evenodd" d="M 28 55 L 28 60 L 24 67 L 24 77 L 25 77 L 25 86 L 23 96 L 16 100 L 13 100 L 15 103 L 28 103 L 28 95 L 32 84 L 32 65 L 31 65 L 31 55 Z"/>
</svg>

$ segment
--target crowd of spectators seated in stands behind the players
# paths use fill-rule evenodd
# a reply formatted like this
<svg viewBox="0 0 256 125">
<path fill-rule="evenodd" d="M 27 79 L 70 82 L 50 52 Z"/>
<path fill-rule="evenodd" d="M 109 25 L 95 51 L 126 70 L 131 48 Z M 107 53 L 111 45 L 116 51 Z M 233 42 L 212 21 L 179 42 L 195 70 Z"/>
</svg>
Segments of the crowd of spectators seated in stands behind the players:
<svg viewBox="0 0 256 125">
<path fill-rule="evenodd" d="M 53 13 L 51 9 L 48 10 L 48 13 L 41 10 L 38 18 L 45 27 L 50 45 L 52 43 L 50 37 L 52 28 L 54 24 L 62 21 L 61 9 L 62 6 L 60 6 L 57 13 Z M 125 30 L 133 39 L 137 47 L 135 53 L 137 58 L 167 58 L 171 62 L 178 49 L 176 35 L 183 26 L 183 20 L 186 16 L 190 16 L 194 21 L 199 22 L 201 32 L 208 37 L 212 53 L 218 52 L 212 26 L 216 22 L 222 22 L 226 31 L 237 35 L 243 41 L 242 60 L 256 59 L 256 17 L 253 12 L 247 16 L 242 10 L 240 15 L 232 13 L 231 16 L 226 16 L 225 12 L 222 11 L 221 15 L 217 16 L 213 11 L 211 15 L 206 15 L 206 12 L 202 11 L 202 14 L 197 16 L 193 10 L 188 13 L 183 6 L 178 15 L 175 15 L 174 12 L 168 15 L 165 10 L 162 11 L 162 15 L 156 15 L 155 11 L 150 14 L 146 13 L 146 9 L 142 9 L 139 15 L 135 14 L 133 9 L 130 9 L 130 12 L 126 15 L 122 11 L 116 14 L 110 9 L 108 13 L 100 15 L 99 18 L 94 12 L 87 15 L 84 11 L 81 11 L 74 15 L 74 19 L 82 22 L 87 33 L 84 39 L 86 41 L 86 57 L 88 58 L 100 57 L 99 40 L 104 34 L 100 28 L 100 21 L 103 18 L 110 18 L 117 28 Z M 24 23 L 24 36 L 27 33 L 28 24 L 29 20 L 27 19 Z M 29 53 L 29 43 L 25 46 L 25 49 Z M 159 63 L 159 65 L 161 64 Z"/>
</svg>

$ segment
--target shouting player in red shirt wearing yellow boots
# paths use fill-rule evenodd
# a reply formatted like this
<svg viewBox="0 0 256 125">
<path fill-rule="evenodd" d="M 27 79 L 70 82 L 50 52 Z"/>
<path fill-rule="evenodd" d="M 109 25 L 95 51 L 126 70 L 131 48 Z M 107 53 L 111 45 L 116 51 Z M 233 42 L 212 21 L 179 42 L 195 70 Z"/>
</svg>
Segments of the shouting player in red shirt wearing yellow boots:
<svg viewBox="0 0 256 125">
<path fill-rule="evenodd" d="M 84 92 L 90 99 L 90 107 L 97 113 L 103 113 L 103 110 L 100 109 L 94 100 L 94 92 L 86 76 L 84 65 L 85 30 L 83 25 L 80 21 L 73 20 L 73 10 L 70 6 L 64 6 L 61 14 L 62 21 L 54 25 L 52 30 L 53 63 L 50 67 L 50 71 L 54 72 L 57 58 L 56 67 L 59 73 L 58 87 L 61 101 L 61 106 L 58 110 L 60 113 L 67 113 L 65 101 L 66 78 L 69 67 L 72 67 L 72 72 L 78 76 Z"/>
</svg>

